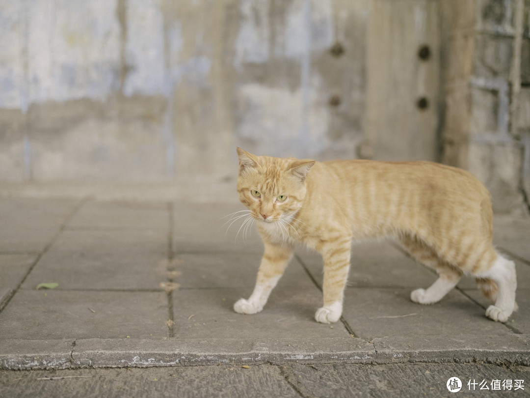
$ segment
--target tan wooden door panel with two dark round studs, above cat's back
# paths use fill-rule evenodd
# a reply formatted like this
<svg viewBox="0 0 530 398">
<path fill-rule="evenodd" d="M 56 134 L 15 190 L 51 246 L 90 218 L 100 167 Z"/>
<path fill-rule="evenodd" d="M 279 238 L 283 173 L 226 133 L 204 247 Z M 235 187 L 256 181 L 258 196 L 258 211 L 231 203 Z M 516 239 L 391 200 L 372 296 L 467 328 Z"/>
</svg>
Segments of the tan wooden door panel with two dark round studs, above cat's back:
<svg viewBox="0 0 530 398">
<path fill-rule="evenodd" d="M 361 157 L 440 158 L 438 0 L 370 2 Z"/>
</svg>

